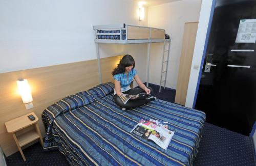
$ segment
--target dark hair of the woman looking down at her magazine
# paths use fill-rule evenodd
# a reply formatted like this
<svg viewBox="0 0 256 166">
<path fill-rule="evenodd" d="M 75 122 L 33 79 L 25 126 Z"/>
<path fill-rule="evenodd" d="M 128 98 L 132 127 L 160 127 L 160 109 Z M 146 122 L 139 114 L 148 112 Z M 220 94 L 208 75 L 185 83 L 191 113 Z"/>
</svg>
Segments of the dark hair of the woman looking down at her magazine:
<svg viewBox="0 0 256 166">
<path fill-rule="evenodd" d="M 114 76 L 116 74 L 125 72 L 125 67 L 128 66 L 133 66 L 134 68 L 135 61 L 131 55 L 126 54 L 125 56 L 123 56 L 117 67 L 113 70 L 112 75 Z"/>
</svg>

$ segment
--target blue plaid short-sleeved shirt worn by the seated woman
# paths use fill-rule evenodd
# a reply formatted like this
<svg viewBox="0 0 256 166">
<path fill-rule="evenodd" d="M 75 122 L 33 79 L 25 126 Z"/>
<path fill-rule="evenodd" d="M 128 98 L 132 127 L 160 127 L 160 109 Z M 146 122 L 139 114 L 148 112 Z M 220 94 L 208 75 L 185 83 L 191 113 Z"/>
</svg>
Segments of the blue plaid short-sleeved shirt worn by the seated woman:
<svg viewBox="0 0 256 166">
<path fill-rule="evenodd" d="M 114 79 L 118 80 L 120 82 L 121 92 L 128 91 L 128 90 L 131 89 L 130 85 L 131 85 L 131 83 L 132 83 L 132 81 L 134 79 L 134 76 L 136 74 L 137 74 L 137 71 L 135 69 L 132 69 L 128 73 L 128 76 L 124 72 L 114 75 Z"/>
</svg>

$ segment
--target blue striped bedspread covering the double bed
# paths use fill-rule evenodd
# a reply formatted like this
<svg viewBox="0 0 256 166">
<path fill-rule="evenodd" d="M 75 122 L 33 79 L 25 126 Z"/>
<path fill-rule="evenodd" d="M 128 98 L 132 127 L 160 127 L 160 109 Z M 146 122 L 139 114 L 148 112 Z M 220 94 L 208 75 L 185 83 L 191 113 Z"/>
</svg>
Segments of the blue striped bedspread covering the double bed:
<svg viewBox="0 0 256 166">
<path fill-rule="evenodd" d="M 192 165 L 205 114 L 155 100 L 122 111 L 112 83 L 61 99 L 42 113 L 45 150 L 58 149 L 72 165 Z M 140 119 L 168 122 L 175 131 L 167 150 L 130 133 Z"/>
</svg>

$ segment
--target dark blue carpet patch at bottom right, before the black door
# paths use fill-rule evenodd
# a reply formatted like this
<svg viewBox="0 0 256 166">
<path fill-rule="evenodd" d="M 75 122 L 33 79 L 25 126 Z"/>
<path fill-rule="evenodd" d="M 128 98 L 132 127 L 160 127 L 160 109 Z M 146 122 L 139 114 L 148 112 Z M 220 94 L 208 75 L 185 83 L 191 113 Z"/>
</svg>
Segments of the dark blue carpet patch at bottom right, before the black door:
<svg viewBox="0 0 256 166">
<path fill-rule="evenodd" d="M 251 137 L 205 123 L 194 165 L 256 165 Z"/>
</svg>

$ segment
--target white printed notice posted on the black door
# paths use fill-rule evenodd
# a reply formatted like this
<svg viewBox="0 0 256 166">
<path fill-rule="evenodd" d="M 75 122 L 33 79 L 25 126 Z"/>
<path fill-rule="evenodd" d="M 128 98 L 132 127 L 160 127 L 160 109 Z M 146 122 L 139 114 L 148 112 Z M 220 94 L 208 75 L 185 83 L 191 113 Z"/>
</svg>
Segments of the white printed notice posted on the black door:
<svg viewBox="0 0 256 166">
<path fill-rule="evenodd" d="M 256 19 L 241 19 L 236 43 L 255 43 Z"/>
</svg>

